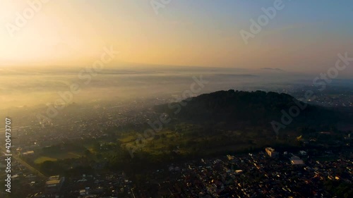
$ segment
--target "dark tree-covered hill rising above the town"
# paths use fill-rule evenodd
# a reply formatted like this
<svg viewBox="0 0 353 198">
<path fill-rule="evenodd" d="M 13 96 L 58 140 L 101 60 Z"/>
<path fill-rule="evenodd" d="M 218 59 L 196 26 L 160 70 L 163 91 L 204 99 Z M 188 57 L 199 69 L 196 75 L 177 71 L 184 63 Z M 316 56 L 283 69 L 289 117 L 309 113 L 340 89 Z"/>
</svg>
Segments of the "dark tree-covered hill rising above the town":
<svg viewBox="0 0 353 198">
<path fill-rule="evenodd" d="M 306 108 L 299 108 L 304 105 Z M 262 91 L 242 92 L 230 89 L 155 107 L 157 112 L 168 113 L 174 122 L 225 123 L 231 128 L 249 125 L 271 127 L 273 120 L 282 123 L 282 110 L 289 113 L 291 108 L 300 109 L 300 113 L 299 116 L 291 116 L 293 121 L 288 125 L 289 128 L 335 125 L 338 120 L 337 113 L 321 106 L 304 104 L 289 94 Z"/>
</svg>

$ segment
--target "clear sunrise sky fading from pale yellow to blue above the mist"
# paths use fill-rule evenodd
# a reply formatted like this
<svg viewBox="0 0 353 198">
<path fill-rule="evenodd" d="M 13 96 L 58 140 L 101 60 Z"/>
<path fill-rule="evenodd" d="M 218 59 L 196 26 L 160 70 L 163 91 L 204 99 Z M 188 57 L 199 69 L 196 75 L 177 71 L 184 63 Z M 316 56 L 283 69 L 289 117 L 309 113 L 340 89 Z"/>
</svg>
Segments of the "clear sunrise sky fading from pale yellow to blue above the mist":
<svg viewBox="0 0 353 198">
<path fill-rule="evenodd" d="M 264 14 L 262 8 L 274 8 L 274 2 L 0 0 L 0 66 L 81 66 L 111 46 L 120 52 L 114 58 L 116 66 L 318 73 L 334 66 L 339 53 L 353 56 L 349 0 L 283 0 L 282 9 L 246 44 L 241 30 L 251 32 L 251 19 L 257 21 Z M 162 6 L 156 9 L 151 3 Z M 25 23 L 18 23 L 21 16 Z M 353 74 L 353 69 L 346 73 Z"/>
</svg>

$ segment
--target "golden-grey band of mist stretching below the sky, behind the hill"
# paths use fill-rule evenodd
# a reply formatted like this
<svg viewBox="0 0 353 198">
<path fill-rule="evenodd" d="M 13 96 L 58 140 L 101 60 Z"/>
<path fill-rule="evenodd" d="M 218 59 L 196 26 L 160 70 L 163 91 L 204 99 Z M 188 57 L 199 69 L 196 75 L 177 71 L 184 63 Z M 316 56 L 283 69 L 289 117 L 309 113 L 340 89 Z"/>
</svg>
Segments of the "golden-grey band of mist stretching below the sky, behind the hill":
<svg viewBox="0 0 353 198">
<path fill-rule="evenodd" d="M 81 68 L 0 68 L 0 109 L 11 106 L 35 106 L 54 104 L 60 99 L 59 92 L 71 90 L 77 84 L 78 94 L 73 94 L 73 102 L 122 101 L 136 98 L 172 97 L 189 89 L 193 77 L 209 83 L 202 93 L 218 90 L 239 89 L 273 91 L 296 85 L 312 85 L 316 75 L 288 73 L 284 70 L 263 68 L 198 68 L 198 67 L 158 67 L 114 68 L 107 66 L 99 73 L 88 73 Z M 81 74 L 80 74 L 81 73 Z M 88 80 L 90 78 L 90 80 Z M 86 83 L 87 82 L 87 83 Z M 352 80 L 344 80 L 344 85 L 353 87 Z M 341 84 L 342 84 L 341 82 Z M 340 78 L 332 85 L 340 85 Z"/>
</svg>

